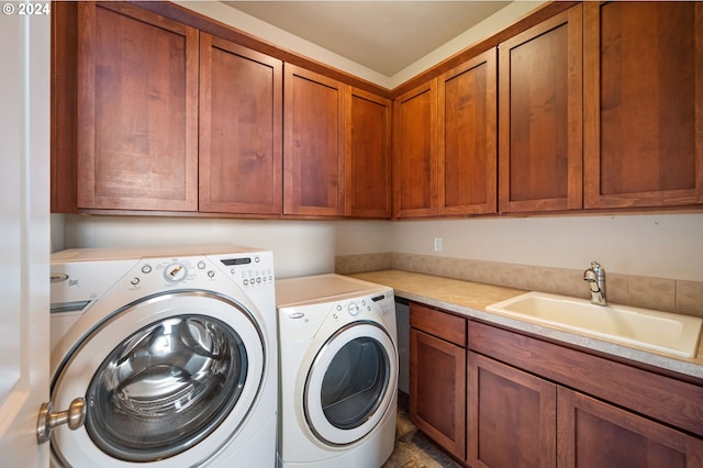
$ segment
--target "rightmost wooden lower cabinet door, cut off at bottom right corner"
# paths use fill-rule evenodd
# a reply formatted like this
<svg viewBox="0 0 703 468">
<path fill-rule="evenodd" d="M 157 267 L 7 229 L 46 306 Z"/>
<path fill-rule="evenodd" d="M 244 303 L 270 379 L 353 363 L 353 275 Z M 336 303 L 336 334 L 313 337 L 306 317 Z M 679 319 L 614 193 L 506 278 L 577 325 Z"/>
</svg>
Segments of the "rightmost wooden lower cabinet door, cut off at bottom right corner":
<svg viewBox="0 0 703 468">
<path fill-rule="evenodd" d="M 558 390 L 559 467 L 687 468 L 703 464 L 703 441 L 620 408 Z"/>
</svg>

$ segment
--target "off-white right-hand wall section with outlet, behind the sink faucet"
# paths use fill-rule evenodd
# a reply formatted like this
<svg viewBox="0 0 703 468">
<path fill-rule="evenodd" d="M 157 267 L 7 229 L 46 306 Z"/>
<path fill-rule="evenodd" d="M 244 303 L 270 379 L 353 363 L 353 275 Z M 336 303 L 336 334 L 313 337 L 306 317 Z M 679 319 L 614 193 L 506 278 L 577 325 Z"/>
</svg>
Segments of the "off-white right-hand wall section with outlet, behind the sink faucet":
<svg viewBox="0 0 703 468">
<path fill-rule="evenodd" d="M 443 252 L 433 250 L 434 237 Z M 703 281 L 703 213 L 395 222 L 393 252 Z"/>
</svg>

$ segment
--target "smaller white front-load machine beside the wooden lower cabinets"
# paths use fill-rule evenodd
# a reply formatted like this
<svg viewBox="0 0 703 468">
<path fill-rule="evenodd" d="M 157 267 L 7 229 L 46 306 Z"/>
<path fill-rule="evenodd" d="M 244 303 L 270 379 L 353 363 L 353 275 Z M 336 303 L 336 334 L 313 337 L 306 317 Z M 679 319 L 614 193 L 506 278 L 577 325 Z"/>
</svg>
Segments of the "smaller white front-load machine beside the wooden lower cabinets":
<svg viewBox="0 0 703 468">
<path fill-rule="evenodd" d="M 393 452 L 391 288 L 339 275 L 278 280 L 280 467 L 380 467 Z"/>
</svg>

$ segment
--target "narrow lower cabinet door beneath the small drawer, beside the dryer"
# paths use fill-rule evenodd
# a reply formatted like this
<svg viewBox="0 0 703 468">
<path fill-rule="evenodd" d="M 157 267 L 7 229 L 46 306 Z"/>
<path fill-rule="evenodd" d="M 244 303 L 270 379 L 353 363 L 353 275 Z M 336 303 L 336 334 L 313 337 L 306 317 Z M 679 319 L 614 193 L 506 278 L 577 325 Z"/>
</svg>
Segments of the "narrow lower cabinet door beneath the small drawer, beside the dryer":
<svg viewBox="0 0 703 468">
<path fill-rule="evenodd" d="M 410 420 L 466 457 L 466 349 L 410 328 Z"/>
</svg>

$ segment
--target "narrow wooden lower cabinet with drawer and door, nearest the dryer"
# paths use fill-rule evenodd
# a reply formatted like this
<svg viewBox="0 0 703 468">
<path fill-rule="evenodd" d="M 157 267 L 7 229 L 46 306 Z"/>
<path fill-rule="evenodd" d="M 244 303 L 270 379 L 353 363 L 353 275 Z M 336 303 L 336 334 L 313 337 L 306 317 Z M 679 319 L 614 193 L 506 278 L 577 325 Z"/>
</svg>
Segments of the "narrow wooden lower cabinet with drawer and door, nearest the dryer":
<svg viewBox="0 0 703 468">
<path fill-rule="evenodd" d="M 411 303 L 410 324 L 410 420 L 464 460 L 466 320 Z"/>
</svg>

